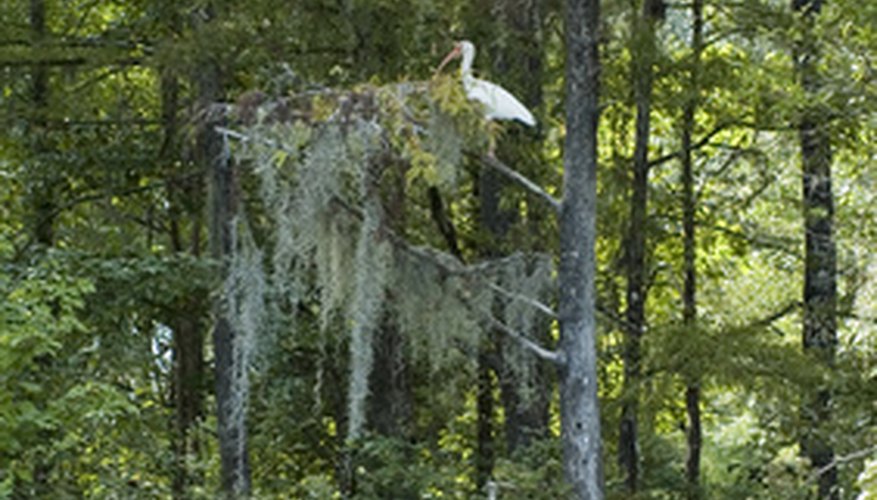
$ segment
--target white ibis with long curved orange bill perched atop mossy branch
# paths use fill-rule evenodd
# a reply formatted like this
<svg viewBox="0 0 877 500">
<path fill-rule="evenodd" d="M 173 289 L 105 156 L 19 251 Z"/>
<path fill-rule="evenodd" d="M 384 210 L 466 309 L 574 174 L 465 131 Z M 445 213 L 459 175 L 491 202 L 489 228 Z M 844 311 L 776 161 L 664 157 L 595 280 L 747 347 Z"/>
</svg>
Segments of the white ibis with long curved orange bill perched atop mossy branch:
<svg viewBox="0 0 877 500">
<path fill-rule="evenodd" d="M 472 42 L 462 40 L 454 44 L 453 50 L 439 65 L 436 73 L 441 71 L 446 64 L 461 56 L 463 57 L 463 63 L 460 66 L 463 74 L 463 89 L 470 100 L 484 105 L 485 118 L 488 120 L 518 120 L 530 127 L 536 125 L 536 119 L 533 118 L 530 110 L 515 99 L 515 96 L 508 90 L 495 83 L 472 76 L 472 60 L 475 59 L 475 45 Z"/>
</svg>

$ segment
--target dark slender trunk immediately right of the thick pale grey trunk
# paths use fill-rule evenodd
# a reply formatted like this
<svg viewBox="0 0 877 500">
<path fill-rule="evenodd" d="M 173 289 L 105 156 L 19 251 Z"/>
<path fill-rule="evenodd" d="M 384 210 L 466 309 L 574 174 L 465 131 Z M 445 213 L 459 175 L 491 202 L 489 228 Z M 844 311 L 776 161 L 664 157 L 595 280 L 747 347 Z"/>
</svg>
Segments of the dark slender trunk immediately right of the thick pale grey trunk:
<svg viewBox="0 0 877 500">
<path fill-rule="evenodd" d="M 652 108 L 652 65 L 655 53 L 655 19 L 644 1 L 642 13 L 635 16 L 631 50 L 631 79 L 636 104 L 636 137 L 633 152 L 633 179 L 630 220 L 625 241 L 627 272 L 627 310 L 623 351 L 624 389 L 618 434 L 618 463 L 625 474 L 625 485 L 634 493 L 639 482 L 637 412 L 641 383 L 641 343 L 645 330 L 646 302 L 646 218 L 648 208 L 649 135 Z"/>
</svg>

